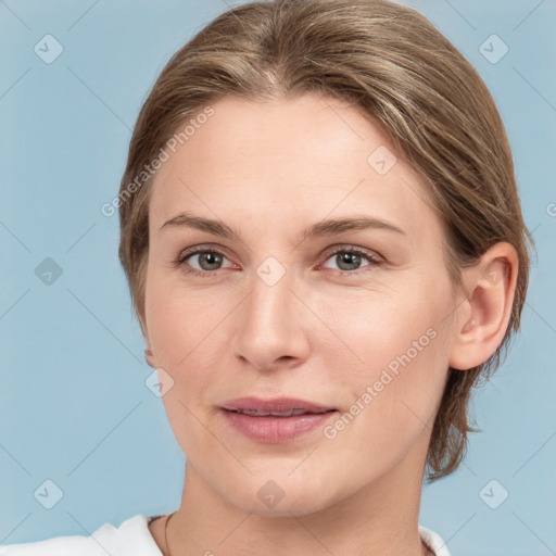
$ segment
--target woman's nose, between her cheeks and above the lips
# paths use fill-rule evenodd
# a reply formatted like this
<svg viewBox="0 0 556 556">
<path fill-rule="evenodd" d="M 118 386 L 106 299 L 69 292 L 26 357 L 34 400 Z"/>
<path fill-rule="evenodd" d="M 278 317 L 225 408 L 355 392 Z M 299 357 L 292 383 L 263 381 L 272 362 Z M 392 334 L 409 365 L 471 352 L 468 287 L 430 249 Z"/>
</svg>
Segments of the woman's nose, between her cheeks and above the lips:
<svg viewBox="0 0 556 556">
<path fill-rule="evenodd" d="M 274 285 L 253 276 L 251 294 L 237 311 L 231 344 L 243 364 L 269 371 L 293 368 L 306 359 L 311 315 L 292 286 L 288 273 Z"/>
</svg>

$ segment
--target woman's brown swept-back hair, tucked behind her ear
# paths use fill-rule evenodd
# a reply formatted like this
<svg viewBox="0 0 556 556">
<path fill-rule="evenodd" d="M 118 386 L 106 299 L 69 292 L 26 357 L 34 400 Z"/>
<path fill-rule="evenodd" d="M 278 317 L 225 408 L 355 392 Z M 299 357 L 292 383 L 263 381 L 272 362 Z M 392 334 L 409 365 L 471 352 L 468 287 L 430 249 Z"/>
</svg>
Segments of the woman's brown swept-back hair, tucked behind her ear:
<svg viewBox="0 0 556 556">
<path fill-rule="evenodd" d="M 135 311 L 144 332 L 155 175 L 144 168 L 210 103 L 304 92 L 349 101 L 416 169 L 445 228 L 454 285 L 460 286 L 460 269 L 493 244 L 507 241 L 517 250 L 517 288 L 502 344 L 482 365 L 448 369 L 429 445 L 431 482 L 464 458 L 467 432 L 475 430 L 471 390 L 497 368 L 519 329 L 530 261 L 511 151 L 494 100 L 471 64 L 418 12 L 387 0 L 253 2 L 219 15 L 172 58 L 139 114 L 118 195 L 119 258 Z"/>
</svg>

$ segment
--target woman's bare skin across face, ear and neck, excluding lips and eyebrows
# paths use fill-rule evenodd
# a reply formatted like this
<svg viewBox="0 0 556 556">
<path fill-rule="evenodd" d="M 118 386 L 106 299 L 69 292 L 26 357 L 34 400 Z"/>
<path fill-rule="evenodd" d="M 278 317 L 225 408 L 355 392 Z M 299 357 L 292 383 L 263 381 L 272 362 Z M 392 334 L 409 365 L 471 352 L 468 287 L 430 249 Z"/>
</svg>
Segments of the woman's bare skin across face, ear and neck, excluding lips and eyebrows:
<svg viewBox="0 0 556 556">
<path fill-rule="evenodd" d="M 478 365 L 502 342 L 515 250 L 494 245 L 455 291 L 422 186 L 397 154 L 384 175 L 367 162 L 379 147 L 395 152 L 355 109 L 313 94 L 227 98 L 213 108 L 163 164 L 150 200 L 147 361 L 174 380 L 163 402 L 187 457 L 172 555 L 426 554 L 421 482 L 447 368 Z M 182 211 L 219 219 L 241 240 L 160 230 Z M 354 215 L 404 233 L 300 241 L 309 225 Z M 222 264 L 193 254 L 172 265 L 195 245 L 222 253 Z M 365 255 L 342 264 L 343 252 L 334 253 L 350 247 L 381 263 Z M 286 270 L 273 286 L 257 274 L 269 256 Z M 287 443 L 255 442 L 219 409 L 244 395 L 295 396 L 336 407 L 333 425 L 431 329 L 434 339 L 333 439 L 319 428 Z M 257 496 L 269 480 L 283 494 L 273 507 Z M 168 554 L 164 525 L 150 529 Z"/>
</svg>

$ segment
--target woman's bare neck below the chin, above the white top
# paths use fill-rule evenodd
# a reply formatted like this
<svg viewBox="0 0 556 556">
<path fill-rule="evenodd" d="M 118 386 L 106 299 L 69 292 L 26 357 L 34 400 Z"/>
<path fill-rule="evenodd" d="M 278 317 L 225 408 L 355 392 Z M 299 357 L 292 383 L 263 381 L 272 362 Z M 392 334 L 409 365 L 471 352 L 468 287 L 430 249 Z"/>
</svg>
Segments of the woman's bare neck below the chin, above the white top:
<svg viewBox="0 0 556 556">
<path fill-rule="evenodd" d="M 181 505 L 168 528 L 169 551 L 172 556 L 428 555 L 418 534 L 419 469 L 407 460 L 390 477 L 325 508 L 273 517 L 233 506 L 188 462 Z"/>
</svg>

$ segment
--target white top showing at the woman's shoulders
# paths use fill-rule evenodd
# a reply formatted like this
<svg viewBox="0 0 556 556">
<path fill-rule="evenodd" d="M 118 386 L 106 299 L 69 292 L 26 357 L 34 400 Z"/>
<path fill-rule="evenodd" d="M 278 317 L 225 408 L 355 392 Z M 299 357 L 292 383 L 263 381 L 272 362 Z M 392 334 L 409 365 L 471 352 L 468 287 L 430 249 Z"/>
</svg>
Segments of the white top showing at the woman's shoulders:
<svg viewBox="0 0 556 556">
<path fill-rule="evenodd" d="M 90 536 L 54 536 L 46 541 L 0 546 L 0 556 L 162 556 L 148 525 L 157 516 L 137 516 L 119 527 L 104 523 Z M 419 526 L 419 535 L 435 556 L 450 556 L 442 539 Z"/>
</svg>

